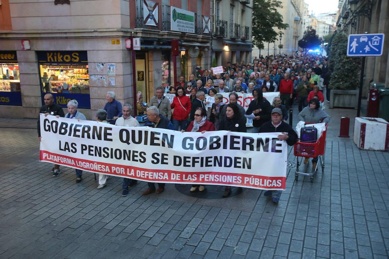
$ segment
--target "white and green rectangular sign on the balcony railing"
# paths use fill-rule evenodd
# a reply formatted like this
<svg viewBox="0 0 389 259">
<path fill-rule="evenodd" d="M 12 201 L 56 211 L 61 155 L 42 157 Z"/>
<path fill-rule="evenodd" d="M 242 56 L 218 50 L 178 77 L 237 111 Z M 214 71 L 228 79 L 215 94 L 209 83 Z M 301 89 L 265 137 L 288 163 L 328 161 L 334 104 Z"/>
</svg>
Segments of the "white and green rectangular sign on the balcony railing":
<svg viewBox="0 0 389 259">
<path fill-rule="evenodd" d="M 170 7 L 170 30 L 195 33 L 195 13 Z"/>
</svg>

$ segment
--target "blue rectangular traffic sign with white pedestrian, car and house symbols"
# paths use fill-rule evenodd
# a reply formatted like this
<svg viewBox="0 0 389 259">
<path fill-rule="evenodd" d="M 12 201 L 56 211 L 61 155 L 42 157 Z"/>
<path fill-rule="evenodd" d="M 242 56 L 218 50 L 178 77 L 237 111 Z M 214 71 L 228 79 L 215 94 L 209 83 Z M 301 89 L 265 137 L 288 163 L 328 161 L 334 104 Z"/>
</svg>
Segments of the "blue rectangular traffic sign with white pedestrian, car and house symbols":
<svg viewBox="0 0 389 259">
<path fill-rule="evenodd" d="M 347 56 L 381 56 L 384 49 L 383 33 L 350 34 Z"/>
</svg>

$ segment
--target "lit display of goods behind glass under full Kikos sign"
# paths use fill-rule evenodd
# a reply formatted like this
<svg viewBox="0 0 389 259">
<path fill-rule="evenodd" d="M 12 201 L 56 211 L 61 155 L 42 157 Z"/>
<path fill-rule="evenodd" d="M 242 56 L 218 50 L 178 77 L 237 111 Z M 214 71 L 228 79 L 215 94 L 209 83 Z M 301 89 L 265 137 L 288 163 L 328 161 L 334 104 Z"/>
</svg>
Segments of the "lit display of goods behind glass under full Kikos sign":
<svg viewBox="0 0 389 259">
<path fill-rule="evenodd" d="M 89 94 L 88 65 L 40 65 L 44 92 Z"/>
</svg>

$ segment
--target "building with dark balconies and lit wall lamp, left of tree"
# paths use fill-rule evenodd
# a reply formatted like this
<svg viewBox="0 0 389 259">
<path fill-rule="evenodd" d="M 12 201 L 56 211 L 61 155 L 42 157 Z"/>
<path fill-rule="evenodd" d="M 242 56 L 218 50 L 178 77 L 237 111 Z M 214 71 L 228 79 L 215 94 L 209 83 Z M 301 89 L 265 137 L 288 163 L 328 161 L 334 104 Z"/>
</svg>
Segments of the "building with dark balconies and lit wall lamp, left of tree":
<svg viewBox="0 0 389 259">
<path fill-rule="evenodd" d="M 212 64 L 251 61 L 252 1 L 214 0 L 212 3 Z"/>
</svg>

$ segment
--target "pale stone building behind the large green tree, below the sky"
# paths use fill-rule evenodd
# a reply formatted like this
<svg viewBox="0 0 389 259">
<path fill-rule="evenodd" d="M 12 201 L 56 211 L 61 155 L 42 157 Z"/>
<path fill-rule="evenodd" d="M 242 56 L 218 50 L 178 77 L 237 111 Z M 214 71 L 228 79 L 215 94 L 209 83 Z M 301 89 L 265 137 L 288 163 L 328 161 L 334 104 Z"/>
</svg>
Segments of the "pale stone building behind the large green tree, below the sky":
<svg viewBox="0 0 389 259">
<path fill-rule="evenodd" d="M 277 7 L 277 11 L 282 15 L 283 23 L 289 24 L 286 30 L 278 31 L 277 38 L 273 42 L 264 42 L 264 49 L 261 49 L 261 55 L 273 55 L 278 53 L 291 54 L 298 50 L 298 41 L 304 34 L 304 23 L 307 5 L 304 0 L 282 0 L 281 7 Z M 282 48 L 279 49 L 279 45 Z M 259 49 L 254 48 L 252 56 L 259 56 Z"/>
</svg>

